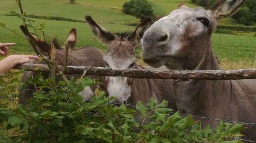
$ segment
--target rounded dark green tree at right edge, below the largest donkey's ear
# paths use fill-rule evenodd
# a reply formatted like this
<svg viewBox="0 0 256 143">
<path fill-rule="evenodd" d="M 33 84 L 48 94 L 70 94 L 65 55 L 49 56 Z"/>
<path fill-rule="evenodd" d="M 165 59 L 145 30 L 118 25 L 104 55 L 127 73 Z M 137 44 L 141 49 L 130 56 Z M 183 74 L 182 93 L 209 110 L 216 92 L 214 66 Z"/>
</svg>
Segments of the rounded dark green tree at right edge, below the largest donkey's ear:
<svg viewBox="0 0 256 143">
<path fill-rule="evenodd" d="M 232 16 L 238 23 L 243 25 L 253 25 L 254 16 L 250 9 L 246 6 L 239 8 L 239 10 Z"/>
</svg>

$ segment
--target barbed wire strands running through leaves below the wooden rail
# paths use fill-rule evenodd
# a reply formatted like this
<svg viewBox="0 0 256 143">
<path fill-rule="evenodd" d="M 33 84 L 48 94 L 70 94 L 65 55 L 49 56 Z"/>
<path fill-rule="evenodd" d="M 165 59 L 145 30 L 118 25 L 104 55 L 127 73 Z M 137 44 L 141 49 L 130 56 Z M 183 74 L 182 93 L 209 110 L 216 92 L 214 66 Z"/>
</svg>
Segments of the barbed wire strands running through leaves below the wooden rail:
<svg viewBox="0 0 256 143">
<path fill-rule="evenodd" d="M 35 90 L 31 90 L 31 89 L 24 89 L 24 90 L 28 90 L 28 91 L 33 91 L 33 92 L 36 92 Z M 44 92 L 44 91 L 43 91 Z M 48 93 L 48 92 L 44 92 L 44 93 Z M 25 100 L 17 100 L 17 99 L 11 99 L 11 98 L 5 98 L 5 97 L 0 97 L 0 99 L 6 99 L 6 100 L 11 100 L 11 101 L 22 101 L 22 102 L 25 102 Z M 86 102 L 90 102 L 90 100 L 85 100 Z M 120 106 L 122 105 L 121 103 L 112 103 L 112 102 L 109 102 L 108 101 L 108 104 L 114 104 L 114 105 L 117 105 L 117 106 Z M 132 107 L 134 109 L 136 109 L 136 106 L 133 106 L 133 105 L 130 105 L 130 104 L 123 104 L 123 105 L 126 105 L 128 107 Z M 175 111 L 176 112 L 176 111 Z M 175 112 L 171 111 L 169 112 L 170 114 L 174 114 Z M 103 115 L 101 113 L 95 113 L 95 112 L 87 112 L 88 114 L 97 114 L 97 115 Z M 188 116 L 189 114 L 182 114 L 180 113 L 180 116 Z M 240 123 L 240 124 L 245 124 L 245 125 L 256 125 L 256 123 L 250 123 L 250 122 L 240 122 L 240 121 L 227 121 L 227 120 L 221 120 L 221 119 L 215 119 L 215 118 L 210 118 L 210 117 L 201 117 L 201 116 L 196 116 L 196 115 L 190 115 L 194 118 L 200 118 L 200 119 L 207 119 L 207 120 L 214 120 L 214 121 L 223 121 L 223 122 L 228 122 L 228 123 Z M 136 122 L 140 122 L 140 123 L 146 123 L 146 124 L 149 124 L 149 122 L 143 122 L 143 121 L 140 121 L 140 120 L 136 120 L 134 119 Z M 233 137 L 232 140 L 240 140 L 240 141 L 246 141 L 246 142 L 251 142 L 251 143 L 256 143 L 256 141 L 250 141 L 250 140 L 244 140 L 244 139 L 241 139 L 241 138 L 236 138 L 236 137 Z"/>
</svg>

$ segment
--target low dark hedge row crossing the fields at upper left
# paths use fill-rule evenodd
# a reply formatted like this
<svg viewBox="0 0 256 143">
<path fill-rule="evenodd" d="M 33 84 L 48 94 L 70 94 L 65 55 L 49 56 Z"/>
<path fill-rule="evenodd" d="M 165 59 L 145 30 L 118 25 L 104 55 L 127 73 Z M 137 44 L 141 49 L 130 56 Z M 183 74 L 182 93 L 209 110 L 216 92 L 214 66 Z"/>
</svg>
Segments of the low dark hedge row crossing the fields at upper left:
<svg viewBox="0 0 256 143">
<path fill-rule="evenodd" d="M 1 14 L 1 15 L 5 15 L 5 16 L 16 16 L 16 15 L 11 15 L 11 14 Z M 58 21 L 69 21 L 69 22 L 83 22 L 86 23 L 86 21 L 82 21 L 82 20 L 74 20 L 71 18 L 65 18 L 65 17 L 59 17 L 59 16 L 38 16 L 38 15 L 26 15 L 26 17 L 28 18 L 36 18 L 36 19 L 43 19 L 43 20 L 58 20 Z"/>
</svg>

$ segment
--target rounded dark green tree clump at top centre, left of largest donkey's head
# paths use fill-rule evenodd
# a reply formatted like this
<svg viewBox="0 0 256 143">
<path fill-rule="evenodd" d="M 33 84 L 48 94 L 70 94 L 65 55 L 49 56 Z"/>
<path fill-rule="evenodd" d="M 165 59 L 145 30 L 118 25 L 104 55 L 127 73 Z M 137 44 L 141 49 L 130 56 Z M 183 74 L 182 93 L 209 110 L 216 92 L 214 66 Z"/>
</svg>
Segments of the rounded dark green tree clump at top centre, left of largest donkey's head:
<svg viewBox="0 0 256 143">
<path fill-rule="evenodd" d="M 141 21 L 146 16 L 154 16 L 154 10 L 147 0 L 131 0 L 123 4 L 122 12 L 133 15 Z"/>
</svg>

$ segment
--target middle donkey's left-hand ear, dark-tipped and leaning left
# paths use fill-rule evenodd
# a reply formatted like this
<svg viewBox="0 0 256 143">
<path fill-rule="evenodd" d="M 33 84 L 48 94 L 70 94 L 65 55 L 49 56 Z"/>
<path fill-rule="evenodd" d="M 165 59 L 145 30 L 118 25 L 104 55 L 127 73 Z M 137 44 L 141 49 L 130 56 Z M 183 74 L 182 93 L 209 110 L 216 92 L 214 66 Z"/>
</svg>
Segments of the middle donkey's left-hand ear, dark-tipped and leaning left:
<svg viewBox="0 0 256 143">
<path fill-rule="evenodd" d="M 91 16 L 85 16 L 86 22 L 89 24 L 90 29 L 94 33 L 94 35 L 99 39 L 100 42 L 105 43 L 107 45 L 112 44 L 115 36 L 107 31 L 106 29 L 100 27 Z"/>
</svg>

